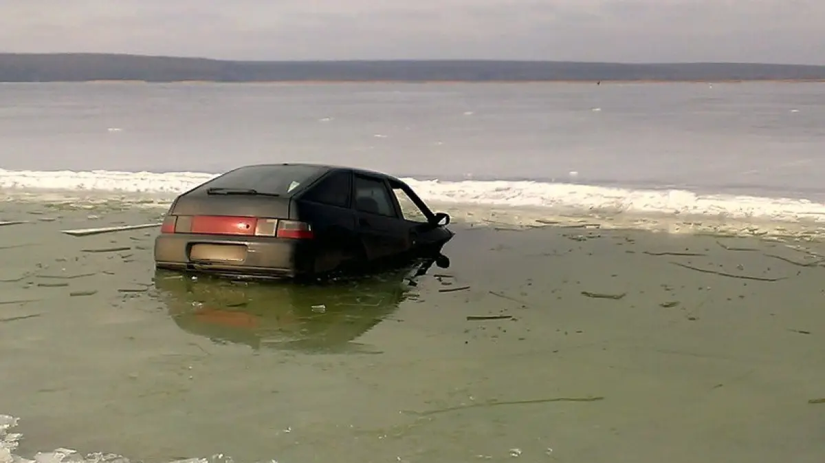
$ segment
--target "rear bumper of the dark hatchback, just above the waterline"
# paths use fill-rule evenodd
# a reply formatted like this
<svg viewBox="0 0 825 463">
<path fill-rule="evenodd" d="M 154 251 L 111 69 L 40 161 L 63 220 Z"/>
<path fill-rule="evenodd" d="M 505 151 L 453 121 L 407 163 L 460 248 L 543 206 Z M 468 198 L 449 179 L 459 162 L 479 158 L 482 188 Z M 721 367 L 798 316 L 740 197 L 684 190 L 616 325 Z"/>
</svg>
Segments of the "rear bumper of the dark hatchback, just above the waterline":
<svg viewBox="0 0 825 463">
<path fill-rule="evenodd" d="M 240 245 L 246 253 L 238 261 L 193 260 L 191 249 L 196 244 Z M 298 276 L 312 271 L 314 254 L 313 243 L 295 239 L 160 234 L 154 244 L 155 267 L 233 276 Z"/>
</svg>

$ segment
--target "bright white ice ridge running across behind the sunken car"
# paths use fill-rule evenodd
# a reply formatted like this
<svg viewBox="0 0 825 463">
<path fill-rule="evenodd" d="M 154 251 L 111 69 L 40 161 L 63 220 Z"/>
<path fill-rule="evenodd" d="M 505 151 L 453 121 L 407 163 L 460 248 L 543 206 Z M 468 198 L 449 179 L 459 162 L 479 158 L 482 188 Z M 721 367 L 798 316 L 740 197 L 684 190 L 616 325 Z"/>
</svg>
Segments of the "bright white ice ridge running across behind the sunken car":
<svg viewBox="0 0 825 463">
<path fill-rule="evenodd" d="M 203 172 L 12 171 L 0 188 L 177 194 L 215 174 Z M 546 207 L 595 213 L 712 215 L 732 219 L 825 222 L 825 204 L 790 198 L 700 195 L 685 190 L 629 190 L 571 183 L 444 182 L 405 178 L 425 201 L 483 206 Z"/>
</svg>

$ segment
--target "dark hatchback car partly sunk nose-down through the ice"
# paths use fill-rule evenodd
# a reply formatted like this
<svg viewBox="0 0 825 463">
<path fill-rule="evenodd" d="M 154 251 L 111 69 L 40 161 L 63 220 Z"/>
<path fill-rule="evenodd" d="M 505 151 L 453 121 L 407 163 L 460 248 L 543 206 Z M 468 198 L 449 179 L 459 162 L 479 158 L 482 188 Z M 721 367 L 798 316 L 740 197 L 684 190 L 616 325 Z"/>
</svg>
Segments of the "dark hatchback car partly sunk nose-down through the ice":
<svg viewBox="0 0 825 463">
<path fill-rule="evenodd" d="M 455 235 L 407 183 L 311 163 L 235 168 L 172 201 L 155 267 L 252 278 L 323 276 L 435 256 Z"/>
</svg>

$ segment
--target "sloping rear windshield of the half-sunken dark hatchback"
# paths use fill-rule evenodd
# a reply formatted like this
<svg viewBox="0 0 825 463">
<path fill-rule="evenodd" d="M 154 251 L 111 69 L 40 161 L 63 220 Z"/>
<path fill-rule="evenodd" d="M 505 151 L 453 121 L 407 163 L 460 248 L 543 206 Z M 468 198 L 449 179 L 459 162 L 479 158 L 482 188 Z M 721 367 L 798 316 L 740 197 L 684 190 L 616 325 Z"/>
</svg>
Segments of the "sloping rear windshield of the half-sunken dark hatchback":
<svg viewBox="0 0 825 463">
<path fill-rule="evenodd" d="M 313 182 L 323 168 L 301 165 L 249 166 L 238 168 L 205 183 L 198 190 L 210 188 L 252 189 L 259 193 L 291 196 L 300 187 Z"/>
</svg>

